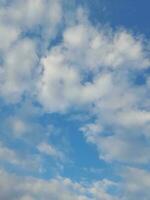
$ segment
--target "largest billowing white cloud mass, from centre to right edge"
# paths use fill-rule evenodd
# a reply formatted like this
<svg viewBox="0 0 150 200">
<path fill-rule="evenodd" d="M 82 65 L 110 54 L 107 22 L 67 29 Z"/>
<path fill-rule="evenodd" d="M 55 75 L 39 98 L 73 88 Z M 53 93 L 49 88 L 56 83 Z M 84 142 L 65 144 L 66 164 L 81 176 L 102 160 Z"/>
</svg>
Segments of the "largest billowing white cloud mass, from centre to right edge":
<svg viewBox="0 0 150 200">
<path fill-rule="evenodd" d="M 149 144 L 141 138 L 149 127 L 148 104 L 143 101 L 149 89 L 147 80 L 138 85 L 133 75 L 149 67 L 148 53 L 140 38 L 125 30 L 109 31 L 87 20 L 68 27 L 63 42 L 42 60 L 37 98 L 50 112 L 86 105 L 97 124 L 82 130 L 96 144 L 100 158 L 146 163 Z"/>
</svg>

